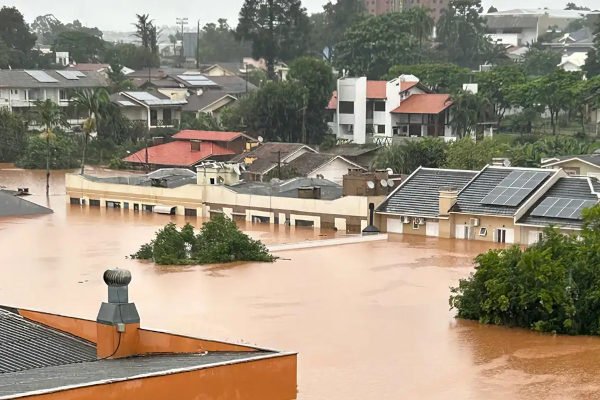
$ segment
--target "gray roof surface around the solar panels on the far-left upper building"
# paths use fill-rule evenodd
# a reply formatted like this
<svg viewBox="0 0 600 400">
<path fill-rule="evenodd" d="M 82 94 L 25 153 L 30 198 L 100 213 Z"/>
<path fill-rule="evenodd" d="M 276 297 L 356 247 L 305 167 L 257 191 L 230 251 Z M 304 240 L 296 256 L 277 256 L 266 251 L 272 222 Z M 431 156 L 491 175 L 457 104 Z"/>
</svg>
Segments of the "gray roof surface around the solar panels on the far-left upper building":
<svg viewBox="0 0 600 400">
<path fill-rule="evenodd" d="M 64 76 L 58 74 L 55 70 L 43 70 L 46 74 L 56 79 L 58 82 L 43 83 L 39 82 L 31 77 L 24 70 L 0 70 L 0 88 L 23 88 L 23 89 L 34 89 L 34 88 L 95 88 L 95 87 L 106 87 L 108 81 L 99 72 L 84 72 L 85 77 L 78 79 L 67 79 Z"/>
</svg>

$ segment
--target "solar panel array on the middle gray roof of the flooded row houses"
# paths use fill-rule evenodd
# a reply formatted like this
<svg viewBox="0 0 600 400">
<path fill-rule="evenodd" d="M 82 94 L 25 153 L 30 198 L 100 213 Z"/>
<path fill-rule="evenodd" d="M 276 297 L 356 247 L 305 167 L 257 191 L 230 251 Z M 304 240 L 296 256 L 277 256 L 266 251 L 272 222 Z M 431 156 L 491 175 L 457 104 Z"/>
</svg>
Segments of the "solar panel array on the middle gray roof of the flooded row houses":
<svg viewBox="0 0 600 400">
<path fill-rule="evenodd" d="M 547 172 L 513 171 L 482 200 L 482 204 L 518 206 L 548 176 Z"/>
</svg>

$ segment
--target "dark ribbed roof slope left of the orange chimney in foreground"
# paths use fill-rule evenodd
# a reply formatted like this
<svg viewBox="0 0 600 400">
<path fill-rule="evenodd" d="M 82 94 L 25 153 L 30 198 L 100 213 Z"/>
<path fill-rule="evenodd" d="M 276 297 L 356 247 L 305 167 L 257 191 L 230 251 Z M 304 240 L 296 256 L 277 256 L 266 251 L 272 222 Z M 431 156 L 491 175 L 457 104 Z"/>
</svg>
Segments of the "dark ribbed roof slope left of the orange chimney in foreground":
<svg viewBox="0 0 600 400">
<path fill-rule="evenodd" d="M 92 343 L 0 309 L 0 388 L 11 372 L 93 360 Z"/>
</svg>

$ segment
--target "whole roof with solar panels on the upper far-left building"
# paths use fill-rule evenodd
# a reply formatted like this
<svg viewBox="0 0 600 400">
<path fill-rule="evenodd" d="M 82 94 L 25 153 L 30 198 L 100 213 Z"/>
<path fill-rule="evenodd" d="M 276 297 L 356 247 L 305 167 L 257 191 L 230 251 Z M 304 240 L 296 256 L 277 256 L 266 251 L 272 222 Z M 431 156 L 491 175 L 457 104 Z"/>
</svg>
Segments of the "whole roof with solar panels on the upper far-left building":
<svg viewBox="0 0 600 400">
<path fill-rule="evenodd" d="M 73 70 L 0 70 L 0 87 L 6 88 L 95 88 L 108 82 L 99 72 Z"/>
</svg>

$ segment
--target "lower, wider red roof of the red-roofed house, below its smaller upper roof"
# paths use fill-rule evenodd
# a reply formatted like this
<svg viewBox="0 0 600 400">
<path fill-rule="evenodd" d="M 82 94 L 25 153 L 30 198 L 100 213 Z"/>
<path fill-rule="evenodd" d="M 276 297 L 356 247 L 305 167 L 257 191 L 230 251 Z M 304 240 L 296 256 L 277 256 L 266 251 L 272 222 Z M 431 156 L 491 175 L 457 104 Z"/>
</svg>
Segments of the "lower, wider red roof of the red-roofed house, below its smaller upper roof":
<svg viewBox="0 0 600 400">
<path fill-rule="evenodd" d="M 203 142 L 200 144 L 200 150 L 192 151 L 190 142 L 174 141 L 148 147 L 148 164 L 190 167 L 212 156 L 233 154 L 235 154 L 233 151 L 213 142 Z M 125 157 L 123 161 L 144 164 L 145 157 L 146 150 L 142 149 Z"/>
</svg>

